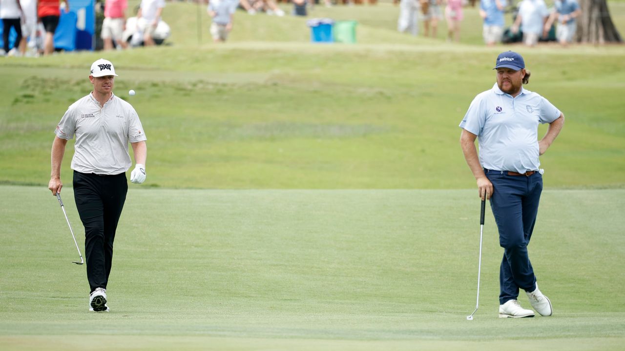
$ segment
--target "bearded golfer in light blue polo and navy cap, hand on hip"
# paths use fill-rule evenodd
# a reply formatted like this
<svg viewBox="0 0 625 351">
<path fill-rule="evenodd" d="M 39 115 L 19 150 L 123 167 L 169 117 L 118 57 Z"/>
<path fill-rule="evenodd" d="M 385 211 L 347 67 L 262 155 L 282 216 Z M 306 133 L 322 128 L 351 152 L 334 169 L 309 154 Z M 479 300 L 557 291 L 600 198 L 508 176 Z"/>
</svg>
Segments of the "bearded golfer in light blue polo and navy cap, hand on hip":
<svg viewBox="0 0 625 351">
<path fill-rule="evenodd" d="M 542 192 L 539 156 L 564 125 L 564 115 L 536 92 L 527 91 L 530 72 L 517 52 L 497 57 L 497 82 L 478 94 L 460 123 L 462 152 L 477 180 L 479 196 L 489 199 L 504 256 L 499 271 L 499 317 L 534 317 L 517 297 L 525 290 L 540 315 L 552 314 L 551 301 L 538 290 L 527 244 L 534 230 Z M 547 133 L 537 138 L 539 124 Z M 479 155 L 475 140 L 479 141 Z"/>
</svg>

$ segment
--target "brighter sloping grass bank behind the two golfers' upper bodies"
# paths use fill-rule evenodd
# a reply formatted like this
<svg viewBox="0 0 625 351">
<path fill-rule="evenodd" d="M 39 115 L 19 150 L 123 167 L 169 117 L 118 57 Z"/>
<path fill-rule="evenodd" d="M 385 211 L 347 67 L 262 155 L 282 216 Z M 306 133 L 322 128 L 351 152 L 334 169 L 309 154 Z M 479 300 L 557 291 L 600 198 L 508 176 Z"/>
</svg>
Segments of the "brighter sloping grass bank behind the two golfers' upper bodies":
<svg viewBox="0 0 625 351">
<path fill-rule="evenodd" d="M 612 4 L 614 18 L 625 14 L 624 2 Z M 54 127 L 91 89 L 91 62 L 106 56 L 119 74 L 116 94 L 148 136 L 142 187 L 466 189 L 474 181 L 457 125 L 492 87 L 494 57 L 511 48 L 532 71 L 527 89 L 566 116 L 541 157 L 546 180 L 569 189 L 625 184 L 623 46 L 447 44 L 397 33 L 390 4 L 317 7 L 359 20 L 356 45 L 309 43 L 305 19 L 237 12 L 232 41 L 217 46 L 198 44 L 193 4 L 166 9 L 171 46 L 0 61 L 0 183 L 47 184 Z"/>
</svg>

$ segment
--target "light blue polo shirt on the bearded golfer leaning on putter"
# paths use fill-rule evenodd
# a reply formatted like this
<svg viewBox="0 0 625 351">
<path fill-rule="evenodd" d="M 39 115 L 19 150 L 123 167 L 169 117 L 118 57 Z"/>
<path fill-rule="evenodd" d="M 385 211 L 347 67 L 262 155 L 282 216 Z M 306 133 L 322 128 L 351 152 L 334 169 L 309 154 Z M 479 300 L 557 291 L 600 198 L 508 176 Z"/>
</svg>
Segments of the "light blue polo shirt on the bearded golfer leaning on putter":
<svg viewBox="0 0 625 351">
<path fill-rule="evenodd" d="M 459 127 L 477 136 L 479 163 L 486 169 L 537 171 L 538 124 L 551 123 L 561 112 L 544 97 L 521 88 L 516 97 L 499 89 L 478 94 Z"/>
</svg>

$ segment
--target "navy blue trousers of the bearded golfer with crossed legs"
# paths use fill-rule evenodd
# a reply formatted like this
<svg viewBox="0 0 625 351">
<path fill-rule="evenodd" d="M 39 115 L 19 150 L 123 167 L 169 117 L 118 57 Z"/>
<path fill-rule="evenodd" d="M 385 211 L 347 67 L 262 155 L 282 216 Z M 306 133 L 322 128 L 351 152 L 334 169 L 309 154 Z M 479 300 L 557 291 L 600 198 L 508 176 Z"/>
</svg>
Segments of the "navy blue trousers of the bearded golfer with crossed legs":
<svg viewBox="0 0 625 351">
<path fill-rule="evenodd" d="M 499 229 L 499 245 L 504 256 L 499 269 L 499 304 L 519 297 L 519 289 L 536 289 L 536 276 L 527 245 L 532 237 L 538 203 L 542 192 L 542 175 L 507 175 L 506 171 L 484 170 L 491 180 L 491 210 Z"/>
</svg>

